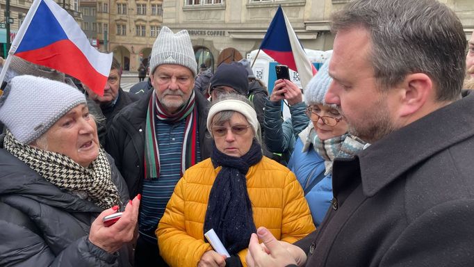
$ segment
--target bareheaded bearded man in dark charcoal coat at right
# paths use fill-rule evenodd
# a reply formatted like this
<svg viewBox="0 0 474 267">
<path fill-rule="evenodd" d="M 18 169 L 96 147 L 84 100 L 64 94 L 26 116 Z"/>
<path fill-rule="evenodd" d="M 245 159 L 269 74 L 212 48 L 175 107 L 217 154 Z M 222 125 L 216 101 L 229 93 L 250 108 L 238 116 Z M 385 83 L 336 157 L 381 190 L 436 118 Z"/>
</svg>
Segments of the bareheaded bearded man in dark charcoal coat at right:
<svg viewBox="0 0 474 267">
<path fill-rule="evenodd" d="M 372 143 L 336 159 L 334 199 L 296 243 L 252 234 L 249 266 L 474 266 L 474 95 L 466 35 L 432 0 L 356 0 L 332 17 L 325 100 Z"/>
</svg>

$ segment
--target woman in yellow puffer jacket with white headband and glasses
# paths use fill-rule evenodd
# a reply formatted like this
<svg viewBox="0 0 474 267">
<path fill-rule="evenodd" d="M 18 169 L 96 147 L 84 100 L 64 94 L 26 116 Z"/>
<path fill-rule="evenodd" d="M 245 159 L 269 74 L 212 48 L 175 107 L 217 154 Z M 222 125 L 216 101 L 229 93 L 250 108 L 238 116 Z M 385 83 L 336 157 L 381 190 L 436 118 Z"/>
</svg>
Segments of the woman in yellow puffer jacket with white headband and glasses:
<svg viewBox="0 0 474 267">
<path fill-rule="evenodd" d="M 246 266 L 252 232 L 267 227 L 294 243 L 315 227 L 293 172 L 262 156 L 259 122 L 248 99 L 225 95 L 209 110 L 211 159 L 186 170 L 156 229 L 170 266 Z M 250 130 L 249 130 L 250 129 Z M 214 229 L 231 257 L 205 241 Z"/>
</svg>

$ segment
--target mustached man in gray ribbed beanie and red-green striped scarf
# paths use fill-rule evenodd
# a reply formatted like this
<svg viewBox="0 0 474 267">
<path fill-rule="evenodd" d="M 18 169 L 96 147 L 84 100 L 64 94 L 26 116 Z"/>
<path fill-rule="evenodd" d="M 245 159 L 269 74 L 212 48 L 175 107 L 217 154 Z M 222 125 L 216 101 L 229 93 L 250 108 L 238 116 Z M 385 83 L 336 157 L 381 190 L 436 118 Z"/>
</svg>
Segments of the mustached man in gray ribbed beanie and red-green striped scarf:
<svg viewBox="0 0 474 267">
<path fill-rule="evenodd" d="M 166 266 L 155 229 L 174 186 L 187 168 L 210 156 L 212 140 L 206 129 L 208 101 L 193 90 L 197 63 L 188 31 L 173 33 L 163 26 L 149 67 L 154 90 L 115 116 L 106 150 L 130 195 L 142 193 L 136 266 Z"/>
</svg>

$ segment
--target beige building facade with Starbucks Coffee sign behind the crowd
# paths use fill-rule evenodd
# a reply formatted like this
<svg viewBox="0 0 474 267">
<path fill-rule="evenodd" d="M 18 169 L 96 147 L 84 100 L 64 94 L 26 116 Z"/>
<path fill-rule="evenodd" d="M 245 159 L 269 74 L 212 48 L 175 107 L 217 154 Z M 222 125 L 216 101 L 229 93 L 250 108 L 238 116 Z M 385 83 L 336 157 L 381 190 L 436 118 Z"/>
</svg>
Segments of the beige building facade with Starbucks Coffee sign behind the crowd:
<svg viewBox="0 0 474 267">
<path fill-rule="evenodd" d="M 332 49 L 329 19 L 348 0 L 164 0 L 163 26 L 190 33 L 198 65 L 216 67 L 259 49 L 279 5 L 304 48 Z M 474 28 L 473 0 L 441 0 L 455 10 L 467 37 Z"/>
</svg>

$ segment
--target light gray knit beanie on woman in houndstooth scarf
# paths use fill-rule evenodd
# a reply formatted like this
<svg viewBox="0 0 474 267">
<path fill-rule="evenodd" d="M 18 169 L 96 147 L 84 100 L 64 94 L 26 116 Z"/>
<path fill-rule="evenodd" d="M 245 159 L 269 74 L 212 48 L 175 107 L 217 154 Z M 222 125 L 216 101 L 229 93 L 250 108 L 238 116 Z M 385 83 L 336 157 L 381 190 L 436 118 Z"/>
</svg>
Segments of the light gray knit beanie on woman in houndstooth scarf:
<svg viewBox="0 0 474 267">
<path fill-rule="evenodd" d="M 79 104 L 85 104 L 85 96 L 66 83 L 16 76 L 0 97 L 0 121 L 19 142 L 29 145 Z"/>
</svg>

